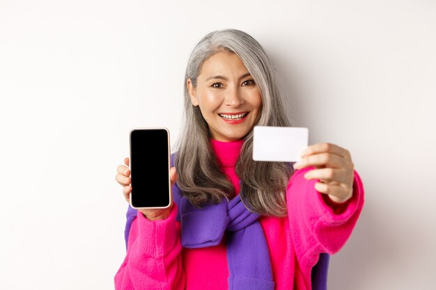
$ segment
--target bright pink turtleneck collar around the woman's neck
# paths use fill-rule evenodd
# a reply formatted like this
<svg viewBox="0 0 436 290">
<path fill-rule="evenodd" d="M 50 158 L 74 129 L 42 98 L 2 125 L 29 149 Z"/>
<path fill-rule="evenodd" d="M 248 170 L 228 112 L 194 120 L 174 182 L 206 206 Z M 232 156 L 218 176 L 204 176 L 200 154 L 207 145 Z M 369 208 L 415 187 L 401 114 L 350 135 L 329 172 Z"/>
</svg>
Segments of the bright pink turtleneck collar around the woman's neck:
<svg viewBox="0 0 436 290">
<path fill-rule="evenodd" d="M 241 152 L 244 140 L 236 140 L 231 142 L 218 141 L 213 138 L 210 139 L 210 145 L 217 156 L 219 163 L 224 167 L 235 167 L 238 156 Z"/>
</svg>

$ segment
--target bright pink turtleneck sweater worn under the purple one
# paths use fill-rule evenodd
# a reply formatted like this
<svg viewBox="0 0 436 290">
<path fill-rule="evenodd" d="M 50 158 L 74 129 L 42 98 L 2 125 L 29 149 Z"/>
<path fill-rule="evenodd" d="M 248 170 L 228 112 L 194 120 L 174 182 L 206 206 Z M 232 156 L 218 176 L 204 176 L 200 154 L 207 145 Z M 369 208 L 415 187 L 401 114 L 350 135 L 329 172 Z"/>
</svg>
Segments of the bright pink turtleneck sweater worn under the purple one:
<svg viewBox="0 0 436 290">
<path fill-rule="evenodd" d="M 235 163 L 242 140 L 211 140 L 221 169 L 239 193 Z M 276 290 L 311 289 L 311 269 L 320 252 L 338 252 L 350 237 L 364 204 L 364 187 L 355 171 L 353 196 L 336 204 L 314 188 L 317 180 L 306 180 L 297 170 L 286 188 L 288 216 L 260 216 L 265 232 Z M 116 273 L 115 288 L 120 289 L 228 289 L 226 234 L 219 245 L 208 248 L 182 248 L 178 205 L 169 218 L 148 220 L 138 212 L 130 229 L 127 254 Z"/>
</svg>

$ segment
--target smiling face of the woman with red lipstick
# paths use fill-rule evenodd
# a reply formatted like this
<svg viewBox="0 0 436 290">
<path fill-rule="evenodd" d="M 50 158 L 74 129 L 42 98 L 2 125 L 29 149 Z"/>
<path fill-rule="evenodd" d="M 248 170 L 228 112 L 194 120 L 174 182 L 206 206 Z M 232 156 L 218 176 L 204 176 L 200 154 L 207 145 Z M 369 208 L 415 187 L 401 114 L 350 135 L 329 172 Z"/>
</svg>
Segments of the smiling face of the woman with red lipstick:
<svg viewBox="0 0 436 290">
<path fill-rule="evenodd" d="M 221 51 L 211 56 L 201 66 L 196 88 L 191 79 L 187 86 L 215 140 L 240 140 L 260 117 L 260 91 L 236 54 Z"/>
</svg>

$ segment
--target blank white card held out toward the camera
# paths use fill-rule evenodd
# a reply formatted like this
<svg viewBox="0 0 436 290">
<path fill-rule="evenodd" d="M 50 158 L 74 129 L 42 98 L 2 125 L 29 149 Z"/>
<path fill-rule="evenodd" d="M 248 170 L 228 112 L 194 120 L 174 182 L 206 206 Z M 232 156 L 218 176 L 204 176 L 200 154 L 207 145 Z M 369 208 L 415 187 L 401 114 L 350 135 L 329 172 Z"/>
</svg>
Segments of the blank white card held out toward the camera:
<svg viewBox="0 0 436 290">
<path fill-rule="evenodd" d="M 295 162 L 309 143 L 309 129 L 302 127 L 255 126 L 253 160 Z"/>
</svg>

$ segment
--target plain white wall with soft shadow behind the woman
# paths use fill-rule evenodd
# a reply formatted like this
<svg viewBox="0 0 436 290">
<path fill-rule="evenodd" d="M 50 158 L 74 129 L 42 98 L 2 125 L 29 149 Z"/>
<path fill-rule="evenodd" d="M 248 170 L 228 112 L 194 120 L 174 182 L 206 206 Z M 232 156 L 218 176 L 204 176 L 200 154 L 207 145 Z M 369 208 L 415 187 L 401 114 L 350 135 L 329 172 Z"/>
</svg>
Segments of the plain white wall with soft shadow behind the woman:
<svg viewBox="0 0 436 290">
<path fill-rule="evenodd" d="M 128 133 L 174 143 L 189 54 L 226 28 L 281 58 L 294 125 L 363 179 L 329 289 L 434 289 L 435 1 L 0 0 L 1 289 L 114 288 Z"/>
</svg>

